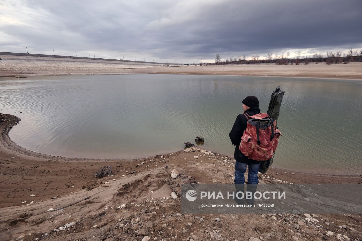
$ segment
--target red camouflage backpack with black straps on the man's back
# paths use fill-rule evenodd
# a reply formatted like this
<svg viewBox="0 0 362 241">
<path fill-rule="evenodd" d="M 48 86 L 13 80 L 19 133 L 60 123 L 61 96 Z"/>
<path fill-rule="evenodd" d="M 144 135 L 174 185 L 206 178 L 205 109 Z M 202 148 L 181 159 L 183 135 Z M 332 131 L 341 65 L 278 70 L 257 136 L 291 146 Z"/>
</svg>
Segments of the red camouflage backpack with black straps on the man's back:
<svg viewBox="0 0 362 241">
<path fill-rule="evenodd" d="M 249 116 L 247 128 L 241 137 L 240 151 L 249 159 L 265 161 L 273 157 L 277 149 L 280 131 L 276 128 L 276 121 L 266 113 Z"/>
</svg>

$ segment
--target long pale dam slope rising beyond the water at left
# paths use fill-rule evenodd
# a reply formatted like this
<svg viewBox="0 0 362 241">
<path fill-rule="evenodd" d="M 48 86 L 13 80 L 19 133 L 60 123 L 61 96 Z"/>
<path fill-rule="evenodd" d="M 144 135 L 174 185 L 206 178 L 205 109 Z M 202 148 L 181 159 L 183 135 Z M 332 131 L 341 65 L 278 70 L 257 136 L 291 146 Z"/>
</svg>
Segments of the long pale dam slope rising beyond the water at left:
<svg viewBox="0 0 362 241">
<path fill-rule="evenodd" d="M 0 52 L 0 77 L 143 73 L 150 67 L 182 66 L 120 59 Z"/>
</svg>

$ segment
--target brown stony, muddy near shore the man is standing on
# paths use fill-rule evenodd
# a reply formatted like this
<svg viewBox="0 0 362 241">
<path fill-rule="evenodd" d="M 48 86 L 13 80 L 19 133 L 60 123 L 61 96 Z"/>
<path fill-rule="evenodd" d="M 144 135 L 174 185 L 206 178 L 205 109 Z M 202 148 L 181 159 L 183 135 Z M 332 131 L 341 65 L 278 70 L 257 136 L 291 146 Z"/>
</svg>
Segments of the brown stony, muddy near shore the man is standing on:
<svg viewBox="0 0 362 241">
<path fill-rule="evenodd" d="M 26 150 L 9 138 L 19 121 L 0 114 L 0 232 L 4 240 L 140 241 L 144 236 L 249 240 L 259 235 L 283 240 L 297 235 L 301 241 L 324 240 L 327 231 L 355 240 L 362 234 L 362 215 L 358 214 L 313 214 L 320 223 L 289 213 L 182 214 L 180 199 L 172 198 L 171 192 L 178 193 L 185 181 L 233 183 L 233 158 L 198 147 L 188 150 L 192 152 L 133 160 L 54 157 Z M 94 177 L 106 165 L 112 166 L 113 175 Z M 170 178 L 172 169 L 186 179 Z M 362 183 L 362 177 L 291 173 L 273 167 L 258 178 L 259 183 Z M 215 223 L 215 217 L 221 221 Z M 140 223 L 132 221 L 136 218 Z M 324 224 L 327 221 L 330 224 Z M 340 229 L 344 224 L 351 229 Z"/>
</svg>

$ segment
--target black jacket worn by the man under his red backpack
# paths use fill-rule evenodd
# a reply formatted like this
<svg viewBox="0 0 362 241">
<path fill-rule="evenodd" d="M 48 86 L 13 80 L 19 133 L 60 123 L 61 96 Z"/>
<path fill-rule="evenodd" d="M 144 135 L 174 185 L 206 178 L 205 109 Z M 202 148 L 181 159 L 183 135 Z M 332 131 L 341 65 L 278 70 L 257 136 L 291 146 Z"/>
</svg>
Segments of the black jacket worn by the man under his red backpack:
<svg viewBox="0 0 362 241">
<path fill-rule="evenodd" d="M 247 111 L 245 111 L 248 115 L 256 115 L 260 113 L 259 107 L 251 107 Z M 244 114 L 240 114 L 236 117 L 235 123 L 232 126 L 232 130 L 229 133 L 231 143 L 235 145 L 234 158 L 236 161 L 240 161 L 248 164 L 257 164 L 260 161 L 254 161 L 245 156 L 240 150 L 239 145 L 241 142 L 241 136 L 243 136 L 244 131 L 247 128 L 248 119 Z"/>
</svg>

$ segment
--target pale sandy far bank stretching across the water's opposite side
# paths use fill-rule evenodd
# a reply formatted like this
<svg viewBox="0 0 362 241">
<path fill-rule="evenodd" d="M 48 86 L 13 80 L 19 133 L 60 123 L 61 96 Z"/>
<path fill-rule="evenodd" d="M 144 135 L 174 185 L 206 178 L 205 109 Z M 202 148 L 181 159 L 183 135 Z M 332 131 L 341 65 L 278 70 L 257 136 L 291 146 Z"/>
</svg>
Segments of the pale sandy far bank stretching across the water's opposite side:
<svg viewBox="0 0 362 241">
<path fill-rule="evenodd" d="M 362 63 L 349 64 L 230 64 L 194 66 L 138 66 L 127 67 L 64 67 L 64 66 L 8 66 L 0 64 L 0 76 L 39 75 L 103 75 L 103 74 L 190 74 L 281 76 L 337 79 L 362 79 Z"/>
</svg>

